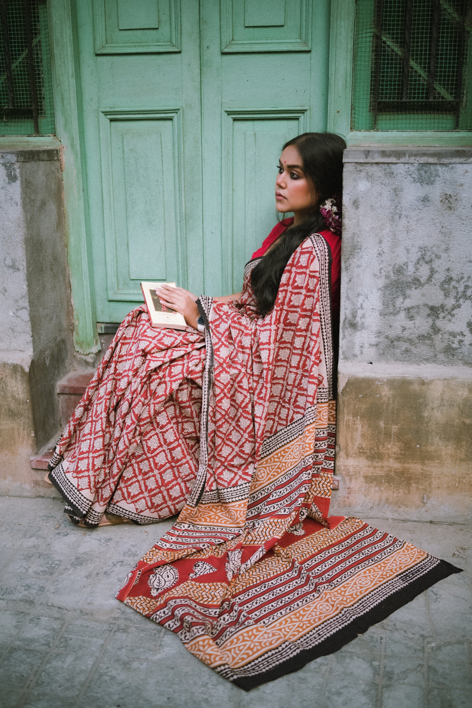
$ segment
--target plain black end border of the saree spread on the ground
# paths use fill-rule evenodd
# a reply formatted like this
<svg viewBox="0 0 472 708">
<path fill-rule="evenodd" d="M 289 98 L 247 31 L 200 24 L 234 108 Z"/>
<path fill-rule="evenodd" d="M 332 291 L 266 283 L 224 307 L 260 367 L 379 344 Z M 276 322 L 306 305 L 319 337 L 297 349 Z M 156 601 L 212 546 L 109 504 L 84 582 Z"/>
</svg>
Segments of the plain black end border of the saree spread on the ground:
<svg viewBox="0 0 472 708">
<path fill-rule="evenodd" d="M 381 602 L 375 607 L 372 607 L 371 610 L 367 610 L 363 615 L 359 615 L 359 617 L 353 619 L 352 622 L 345 627 L 339 629 L 338 632 L 323 639 L 323 641 L 311 647 L 311 649 L 301 649 L 295 656 L 291 656 L 274 668 L 258 673 L 257 675 L 239 677 L 233 680 L 230 678 L 229 680 L 239 688 L 250 691 L 264 683 L 269 683 L 284 675 L 294 673 L 320 656 L 327 656 L 335 651 L 339 651 L 345 644 L 349 644 L 349 642 L 356 639 L 357 636 L 367 632 L 369 627 L 382 622 L 382 620 L 386 619 L 392 612 L 396 612 L 396 610 L 399 610 L 403 605 L 408 605 L 408 603 L 422 592 L 435 585 L 435 583 L 439 583 L 440 580 L 449 578 L 449 576 L 454 575 L 454 573 L 462 573 L 462 569 L 456 568 L 456 566 L 451 565 L 447 561 L 440 560 L 430 571 L 427 571 L 424 575 L 408 583 L 408 586 L 405 586 L 405 588 L 396 590 L 395 593 L 389 595 L 385 600 L 381 600 Z"/>
</svg>

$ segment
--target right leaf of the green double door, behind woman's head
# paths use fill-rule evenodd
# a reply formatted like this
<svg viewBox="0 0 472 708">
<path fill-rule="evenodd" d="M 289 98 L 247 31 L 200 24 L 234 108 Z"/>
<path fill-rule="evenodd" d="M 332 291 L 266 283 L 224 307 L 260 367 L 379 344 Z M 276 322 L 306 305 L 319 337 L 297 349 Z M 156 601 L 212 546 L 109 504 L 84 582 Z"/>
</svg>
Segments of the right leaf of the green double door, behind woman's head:
<svg viewBox="0 0 472 708">
<path fill-rule="evenodd" d="M 227 295 L 277 222 L 282 144 L 326 130 L 330 0 L 201 0 L 201 23 L 205 293 Z"/>
</svg>

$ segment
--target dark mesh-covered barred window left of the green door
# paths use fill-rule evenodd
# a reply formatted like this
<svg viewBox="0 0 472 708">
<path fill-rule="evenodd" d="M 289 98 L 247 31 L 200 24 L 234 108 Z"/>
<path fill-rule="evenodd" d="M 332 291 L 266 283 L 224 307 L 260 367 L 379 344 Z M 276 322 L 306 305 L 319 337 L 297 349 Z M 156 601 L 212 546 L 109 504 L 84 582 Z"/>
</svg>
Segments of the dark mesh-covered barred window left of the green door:
<svg viewBox="0 0 472 708">
<path fill-rule="evenodd" d="M 45 0 L 0 0 L 0 135 L 53 135 Z"/>
</svg>

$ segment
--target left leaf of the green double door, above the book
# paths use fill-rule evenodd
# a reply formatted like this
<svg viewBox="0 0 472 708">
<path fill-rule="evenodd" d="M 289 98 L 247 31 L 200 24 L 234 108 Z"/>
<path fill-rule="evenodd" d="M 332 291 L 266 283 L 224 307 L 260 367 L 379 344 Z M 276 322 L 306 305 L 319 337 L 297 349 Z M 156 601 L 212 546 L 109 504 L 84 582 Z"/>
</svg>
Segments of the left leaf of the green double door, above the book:
<svg viewBox="0 0 472 708">
<path fill-rule="evenodd" d="M 101 322 L 121 321 L 142 302 L 140 280 L 171 280 L 196 295 L 203 291 L 199 3 L 185 0 L 182 18 L 180 0 L 137 5 L 76 4 L 84 173 Z M 181 51 L 165 44 L 169 36 L 174 41 L 174 30 L 179 47 L 181 34 Z"/>
</svg>

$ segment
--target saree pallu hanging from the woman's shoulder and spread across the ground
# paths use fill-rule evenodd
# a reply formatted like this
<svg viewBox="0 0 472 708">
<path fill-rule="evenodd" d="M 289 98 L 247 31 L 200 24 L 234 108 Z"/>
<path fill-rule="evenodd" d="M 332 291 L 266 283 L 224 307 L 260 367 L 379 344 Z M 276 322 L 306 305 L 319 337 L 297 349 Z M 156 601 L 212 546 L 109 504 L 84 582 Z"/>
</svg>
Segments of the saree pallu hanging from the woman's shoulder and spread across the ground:
<svg viewBox="0 0 472 708">
<path fill-rule="evenodd" d="M 450 564 L 357 518 L 329 515 L 335 453 L 330 249 L 313 234 L 258 317 L 200 297 L 200 459 L 176 523 L 117 598 L 239 687 L 331 653 Z"/>
</svg>

